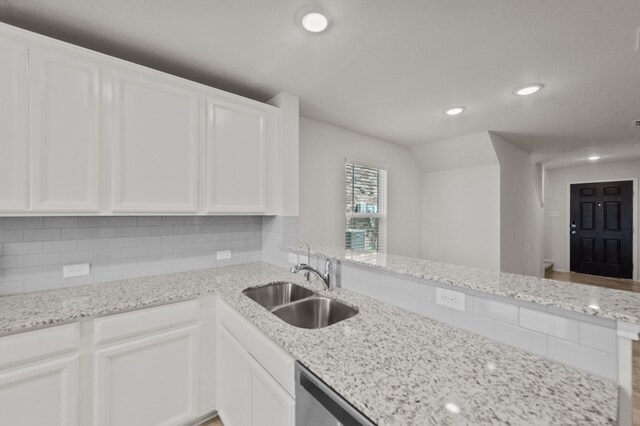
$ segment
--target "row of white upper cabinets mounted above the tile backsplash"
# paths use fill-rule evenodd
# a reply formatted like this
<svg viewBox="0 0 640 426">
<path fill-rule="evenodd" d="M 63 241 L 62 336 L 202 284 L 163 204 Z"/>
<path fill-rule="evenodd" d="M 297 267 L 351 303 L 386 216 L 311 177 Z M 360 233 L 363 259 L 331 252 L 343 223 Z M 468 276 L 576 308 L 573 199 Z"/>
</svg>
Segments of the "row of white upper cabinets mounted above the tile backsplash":
<svg viewBox="0 0 640 426">
<path fill-rule="evenodd" d="M 0 214 L 277 214 L 281 117 L 0 23 Z"/>
</svg>

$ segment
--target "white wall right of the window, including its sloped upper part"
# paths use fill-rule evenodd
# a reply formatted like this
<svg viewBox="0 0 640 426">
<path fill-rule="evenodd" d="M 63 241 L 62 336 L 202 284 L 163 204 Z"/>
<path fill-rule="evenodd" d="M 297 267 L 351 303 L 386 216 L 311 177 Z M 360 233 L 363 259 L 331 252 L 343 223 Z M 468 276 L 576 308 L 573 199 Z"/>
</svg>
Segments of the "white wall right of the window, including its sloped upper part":
<svg viewBox="0 0 640 426">
<path fill-rule="evenodd" d="M 411 151 L 422 174 L 425 259 L 500 269 L 500 164 L 488 132 Z"/>
</svg>

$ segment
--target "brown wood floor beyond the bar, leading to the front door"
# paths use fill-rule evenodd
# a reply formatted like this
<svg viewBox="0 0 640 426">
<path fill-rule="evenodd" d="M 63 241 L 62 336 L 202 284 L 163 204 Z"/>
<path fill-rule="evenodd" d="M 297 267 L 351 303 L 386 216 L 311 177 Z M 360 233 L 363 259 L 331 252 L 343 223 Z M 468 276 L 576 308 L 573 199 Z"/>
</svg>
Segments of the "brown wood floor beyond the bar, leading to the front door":
<svg viewBox="0 0 640 426">
<path fill-rule="evenodd" d="M 546 278 L 640 293 L 640 282 L 575 272 L 547 271 Z M 633 342 L 633 424 L 640 425 L 640 342 Z"/>
</svg>

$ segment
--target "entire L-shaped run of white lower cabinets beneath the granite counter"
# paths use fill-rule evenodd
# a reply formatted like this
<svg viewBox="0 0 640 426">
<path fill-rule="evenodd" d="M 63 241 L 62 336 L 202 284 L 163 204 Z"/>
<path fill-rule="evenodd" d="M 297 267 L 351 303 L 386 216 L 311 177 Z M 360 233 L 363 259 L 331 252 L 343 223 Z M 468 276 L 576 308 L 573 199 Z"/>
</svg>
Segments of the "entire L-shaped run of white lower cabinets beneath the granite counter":
<svg viewBox="0 0 640 426">
<path fill-rule="evenodd" d="M 0 338 L 0 425 L 294 426 L 295 360 L 215 296 Z"/>
</svg>

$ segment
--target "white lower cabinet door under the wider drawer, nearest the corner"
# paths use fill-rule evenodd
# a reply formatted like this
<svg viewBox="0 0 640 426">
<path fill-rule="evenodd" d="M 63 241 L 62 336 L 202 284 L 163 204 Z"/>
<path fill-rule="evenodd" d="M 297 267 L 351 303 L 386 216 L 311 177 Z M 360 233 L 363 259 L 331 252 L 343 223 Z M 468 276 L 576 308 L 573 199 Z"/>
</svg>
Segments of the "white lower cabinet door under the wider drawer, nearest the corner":
<svg viewBox="0 0 640 426">
<path fill-rule="evenodd" d="M 97 350 L 95 424 L 175 425 L 196 418 L 197 329 Z"/>
</svg>

